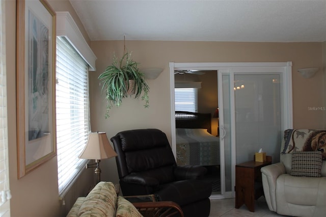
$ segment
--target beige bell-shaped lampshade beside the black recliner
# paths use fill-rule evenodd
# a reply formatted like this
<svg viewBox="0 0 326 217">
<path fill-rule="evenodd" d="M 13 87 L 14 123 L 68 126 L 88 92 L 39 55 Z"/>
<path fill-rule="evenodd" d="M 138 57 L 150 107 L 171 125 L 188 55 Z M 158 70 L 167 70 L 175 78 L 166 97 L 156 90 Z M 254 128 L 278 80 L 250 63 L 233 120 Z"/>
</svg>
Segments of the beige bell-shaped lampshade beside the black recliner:
<svg viewBox="0 0 326 217">
<path fill-rule="evenodd" d="M 117 156 L 110 143 L 108 143 L 105 132 L 91 132 L 86 147 L 79 155 L 82 159 L 105 159 Z"/>
</svg>

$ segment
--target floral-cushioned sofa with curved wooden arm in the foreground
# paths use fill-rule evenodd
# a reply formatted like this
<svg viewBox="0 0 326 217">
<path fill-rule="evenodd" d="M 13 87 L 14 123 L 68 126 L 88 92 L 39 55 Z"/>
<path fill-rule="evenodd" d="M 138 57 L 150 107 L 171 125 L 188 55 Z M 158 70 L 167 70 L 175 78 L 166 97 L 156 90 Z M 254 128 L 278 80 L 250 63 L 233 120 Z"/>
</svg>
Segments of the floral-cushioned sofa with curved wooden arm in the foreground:
<svg viewBox="0 0 326 217">
<path fill-rule="evenodd" d="M 142 196 L 135 196 L 135 198 Z M 130 197 L 129 197 L 130 198 Z M 130 203 L 117 196 L 112 182 L 99 182 L 86 197 L 77 198 L 67 217 L 183 217 L 181 207 L 172 201 L 153 201 Z"/>
</svg>

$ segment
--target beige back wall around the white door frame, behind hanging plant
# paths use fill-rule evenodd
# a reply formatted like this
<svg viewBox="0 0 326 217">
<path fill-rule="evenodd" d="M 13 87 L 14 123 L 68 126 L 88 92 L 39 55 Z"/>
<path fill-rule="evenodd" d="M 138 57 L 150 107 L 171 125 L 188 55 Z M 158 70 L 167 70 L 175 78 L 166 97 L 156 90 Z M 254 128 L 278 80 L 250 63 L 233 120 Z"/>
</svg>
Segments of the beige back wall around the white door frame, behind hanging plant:
<svg viewBox="0 0 326 217">
<path fill-rule="evenodd" d="M 105 100 L 97 79 L 111 64 L 113 52 L 121 57 L 123 41 L 92 41 L 97 71 L 90 74 L 92 130 L 106 131 L 108 138 L 117 132 L 135 128 L 155 127 L 166 132 L 171 140 L 169 62 L 287 62 L 292 61 L 293 126 L 323 128 L 325 111 L 309 111 L 308 107 L 323 106 L 322 43 L 248 43 L 248 42 L 181 42 L 126 41 L 134 61 L 140 67 L 161 67 L 164 71 L 149 80 L 150 107 L 142 101 L 126 98 L 121 107 L 111 110 L 104 119 Z M 303 78 L 297 69 L 318 67 L 314 77 Z M 118 181 L 115 163 L 104 163 L 103 178 Z M 104 166 L 105 165 L 105 166 Z M 109 175 L 110 174 L 110 175 Z"/>
</svg>

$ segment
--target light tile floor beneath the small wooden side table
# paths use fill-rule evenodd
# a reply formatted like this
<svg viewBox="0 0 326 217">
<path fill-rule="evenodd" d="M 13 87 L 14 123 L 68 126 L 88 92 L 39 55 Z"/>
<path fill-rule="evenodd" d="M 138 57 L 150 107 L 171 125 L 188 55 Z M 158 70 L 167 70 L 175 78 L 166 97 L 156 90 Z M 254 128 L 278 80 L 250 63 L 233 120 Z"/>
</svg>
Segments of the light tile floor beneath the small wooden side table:
<svg viewBox="0 0 326 217">
<path fill-rule="evenodd" d="M 235 199 L 220 199 L 210 201 L 210 214 L 209 217 L 237 217 L 237 216 L 259 216 L 259 217 L 271 217 L 271 216 L 283 216 L 276 212 L 270 211 L 266 204 L 265 198 L 260 197 L 255 202 L 255 212 L 248 210 L 246 205 L 242 205 L 240 208 L 234 208 Z"/>
</svg>

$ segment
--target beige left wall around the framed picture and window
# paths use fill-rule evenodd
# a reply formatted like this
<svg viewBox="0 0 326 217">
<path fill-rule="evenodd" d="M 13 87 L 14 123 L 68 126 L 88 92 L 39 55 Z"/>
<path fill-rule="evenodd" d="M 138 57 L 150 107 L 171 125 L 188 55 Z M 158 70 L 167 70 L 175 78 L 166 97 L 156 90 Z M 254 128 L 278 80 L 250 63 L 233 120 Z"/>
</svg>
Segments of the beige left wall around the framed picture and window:
<svg viewBox="0 0 326 217">
<path fill-rule="evenodd" d="M 69 1 L 49 1 L 55 11 L 69 11 L 88 42 L 83 25 L 76 16 Z M 93 184 L 90 177 L 92 169 L 85 170 L 62 206 L 58 194 L 57 157 L 51 158 L 31 173 L 17 179 L 17 140 L 16 140 L 16 1 L 6 1 L 6 50 L 7 50 L 7 87 L 8 87 L 8 135 L 9 135 L 9 175 L 12 199 L 11 216 L 65 216 L 76 197 L 85 195 Z"/>
</svg>

